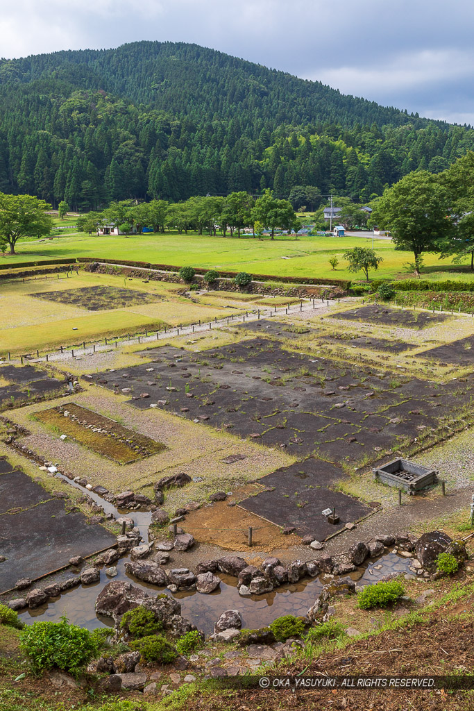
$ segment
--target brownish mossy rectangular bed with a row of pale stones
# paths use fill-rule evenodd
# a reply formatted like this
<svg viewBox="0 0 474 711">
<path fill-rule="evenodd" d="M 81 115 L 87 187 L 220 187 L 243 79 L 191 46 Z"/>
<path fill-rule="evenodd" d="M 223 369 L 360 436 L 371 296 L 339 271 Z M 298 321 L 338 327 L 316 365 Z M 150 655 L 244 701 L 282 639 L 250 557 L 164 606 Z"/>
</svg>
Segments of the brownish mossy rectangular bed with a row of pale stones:
<svg viewBox="0 0 474 711">
<path fill-rule="evenodd" d="M 165 444 L 122 427 L 113 419 L 97 415 L 74 402 L 37 412 L 35 418 L 118 464 L 131 464 L 166 449 Z"/>
</svg>

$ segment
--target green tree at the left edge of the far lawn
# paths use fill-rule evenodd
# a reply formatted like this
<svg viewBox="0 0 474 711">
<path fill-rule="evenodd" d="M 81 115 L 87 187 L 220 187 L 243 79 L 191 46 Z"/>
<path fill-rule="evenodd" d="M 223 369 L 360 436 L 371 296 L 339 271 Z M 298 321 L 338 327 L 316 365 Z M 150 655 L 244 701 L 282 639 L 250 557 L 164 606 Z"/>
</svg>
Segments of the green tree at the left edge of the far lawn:
<svg viewBox="0 0 474 711">
<path fill-rule="evenodd" d="M 15 254 L 21 237 L 43 237 L 53 228 L 53 218 L 45 213 L 51 205 L 31 195 L 0 193 L 0 242 Z"/>
</svg>

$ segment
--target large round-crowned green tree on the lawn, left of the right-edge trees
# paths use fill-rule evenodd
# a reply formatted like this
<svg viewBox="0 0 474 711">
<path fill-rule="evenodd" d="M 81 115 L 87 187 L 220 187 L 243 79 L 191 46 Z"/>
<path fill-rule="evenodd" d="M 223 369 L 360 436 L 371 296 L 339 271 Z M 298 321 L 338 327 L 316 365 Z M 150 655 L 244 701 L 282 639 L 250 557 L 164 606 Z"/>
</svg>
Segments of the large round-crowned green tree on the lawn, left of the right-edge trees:
<svg viewBox="0 0 474 711">
<path fill-rule="evenodd" d="M 399 249 L 413 252 L 419 273 L 423 253 L 440 251 L 453 235 L 450 192 L 433 173 L 409 173 L 375 203 L 371 223 L 390 230 Z"/>
</svg>

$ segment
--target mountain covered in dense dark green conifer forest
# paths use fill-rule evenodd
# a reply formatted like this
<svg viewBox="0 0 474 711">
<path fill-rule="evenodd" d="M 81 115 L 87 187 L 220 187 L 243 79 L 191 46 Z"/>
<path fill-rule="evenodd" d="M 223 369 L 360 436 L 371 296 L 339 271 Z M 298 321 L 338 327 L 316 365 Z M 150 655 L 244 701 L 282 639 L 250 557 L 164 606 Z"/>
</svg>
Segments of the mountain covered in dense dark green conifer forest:
<svg viewBox="0 0 474 711">
<path fill-rule="evenodd" d="M 474 148 L 468 127 L 215 50 L 140 42 L 0 61 L 0 191 L 109 200 L 313 186 L 367 201 Z"/>
</svg>

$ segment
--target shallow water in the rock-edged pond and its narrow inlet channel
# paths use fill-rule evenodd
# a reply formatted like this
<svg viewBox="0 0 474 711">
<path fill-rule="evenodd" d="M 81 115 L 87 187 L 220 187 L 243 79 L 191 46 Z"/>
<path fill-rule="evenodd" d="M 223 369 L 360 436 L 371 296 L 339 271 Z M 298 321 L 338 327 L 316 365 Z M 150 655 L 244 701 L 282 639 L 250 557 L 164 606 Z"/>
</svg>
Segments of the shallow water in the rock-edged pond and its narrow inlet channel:
<svg viewBox="0 0 474 711">
<path fill-rule="evenodd" d="M 59 472 L 55 476 L 87 493 L 87 496 L 104 508 L 105 513 L 113 513 L 116 518 L 129 515 L 134 519 L 136 527 L 139 528 L 141 537 L 144 541 L 148 541 L 148 528 L 151 523 L 150 511 L 120 513 L 112 503 L 105 501 L 99 494 L 87 490 L 75 481 L 70 481 Z M 73 624 L 91 630 L 102 626 L 112 626 L 111 618 L 95 613 L 97 595 L 108 582 L 130 580 L 136 587 L 146 590 L 151 595 L 158 592 L 155 586 L 130 577 L 124 568 L 126 560 L 129 560 L 129 555 L 124 555 L 114 564 L 117 567 L 115 577 L 108 577 L 105 567 L 102 567 L 99 582 L 72 588 L 48 604 L 36 609 L 26 609 L 20 614 L 20 618 L 28 624 L 38 620 L 56 621 L 65 615 Z M 349 577 L 357 580 L 360 584 L 373 584 L 389 573 L 409 573 L 409 562 L 410 559 L 395 552 L 387 552 L 377 559 L 366 562 L 365 565 L 350 573 Z M 66 573 L 66 575 L 68 574 Z M 220 574 L 219 577 L 221 579 L 220 589 L 211 594 L 201 594 L 195 590 L 183 590 L 172 594 L 168 589 L 160 589 L 159 592 L 166 592 L 171 597 L 178 599 L 181 602 L 181 614 L 205 634 L 212 634 L 215 621 L 226 609 L 238 609 L 242 615 L 242 626 L 249 629 L 265 626 L 281 615 L 306 615 L 323 584 L 327 582 L 324 575 L 316 578 L 304 578 L 296 584 L 281 585 L 266 595 L 242 597 L 237 590 L 237 578 L 225 574 Z"/>
</svg>

